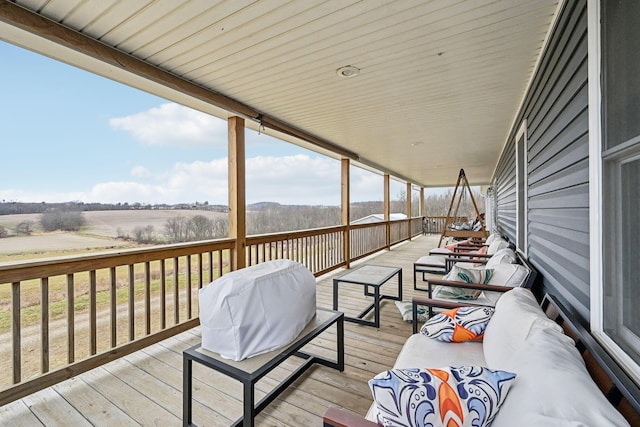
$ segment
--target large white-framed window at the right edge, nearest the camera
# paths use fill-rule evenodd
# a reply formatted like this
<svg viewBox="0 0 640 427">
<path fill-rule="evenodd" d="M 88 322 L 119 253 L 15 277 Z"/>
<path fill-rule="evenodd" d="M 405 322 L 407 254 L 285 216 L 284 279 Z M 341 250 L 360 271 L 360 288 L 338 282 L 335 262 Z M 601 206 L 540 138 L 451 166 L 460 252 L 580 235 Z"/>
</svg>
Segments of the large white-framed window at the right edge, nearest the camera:
<svg viewBox="0 0 640 427">
<path fill-rule="evenodd" d="M 629 37 L 640 25 L 640 3 L 593 1 L 589 6 L 589 25 L 598 28 L 601 22 L 599 35 L 590 32 L 595 35 L 589 51 L 594 61 L 589 75 L 594 106 L 591 261 L 596 265 L 591 323 L 594 333 L 640 381 L 640 51 Z"/>
</svg>

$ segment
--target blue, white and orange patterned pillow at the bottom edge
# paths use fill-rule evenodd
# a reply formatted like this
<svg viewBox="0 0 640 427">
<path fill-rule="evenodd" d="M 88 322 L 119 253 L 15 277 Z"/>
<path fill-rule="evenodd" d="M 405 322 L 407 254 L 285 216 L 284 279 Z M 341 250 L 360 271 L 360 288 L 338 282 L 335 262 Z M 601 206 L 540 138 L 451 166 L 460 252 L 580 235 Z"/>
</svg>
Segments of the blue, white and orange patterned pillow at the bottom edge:
<svg viewBox="0 0 640 427">
<path fill-rule="evenodd" d="M 392 369 L 369 380 L 384 426 L 488 426 L 516 374 L 479 366 Z"/>
</svg>

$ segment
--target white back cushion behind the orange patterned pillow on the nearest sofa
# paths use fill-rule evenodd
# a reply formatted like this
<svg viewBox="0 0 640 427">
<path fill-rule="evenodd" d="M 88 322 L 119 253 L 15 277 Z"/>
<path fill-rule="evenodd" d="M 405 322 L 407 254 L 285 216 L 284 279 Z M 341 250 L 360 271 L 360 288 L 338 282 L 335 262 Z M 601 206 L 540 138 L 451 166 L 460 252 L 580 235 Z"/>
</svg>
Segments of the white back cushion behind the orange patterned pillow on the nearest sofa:
<svg viewBox="0 0 640 427">
<path fill-rule="evenodd" d="M 530 290 L 513 288 L 495 305 L 495 313 L 484 331 L 484 357 L 487 366 L 504 369 L 508 361 L 536 328 L 562 328 L 549 319 Z"/>
</svg>

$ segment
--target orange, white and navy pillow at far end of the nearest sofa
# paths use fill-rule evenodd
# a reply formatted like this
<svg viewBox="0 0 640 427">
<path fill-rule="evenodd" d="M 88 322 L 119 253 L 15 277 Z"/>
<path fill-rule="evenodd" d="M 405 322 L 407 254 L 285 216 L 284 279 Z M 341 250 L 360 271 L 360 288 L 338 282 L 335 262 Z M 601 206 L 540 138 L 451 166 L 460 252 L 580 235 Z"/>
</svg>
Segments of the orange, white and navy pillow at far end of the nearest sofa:
<svg viewBox="0 0 640 427">
<path fill-rule="evenodd" d="M 491 307 L 458 307 L 427 320 L 420 333 L 443 342 L 479 340 L 491 320 Z"/>
</svg>

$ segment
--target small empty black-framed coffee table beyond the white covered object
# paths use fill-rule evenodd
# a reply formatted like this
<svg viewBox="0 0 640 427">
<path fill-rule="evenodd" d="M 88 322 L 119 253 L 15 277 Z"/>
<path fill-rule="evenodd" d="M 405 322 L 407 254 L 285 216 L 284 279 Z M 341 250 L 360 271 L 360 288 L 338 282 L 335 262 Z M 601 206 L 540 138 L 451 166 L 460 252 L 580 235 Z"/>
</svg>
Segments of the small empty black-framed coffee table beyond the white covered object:
<svg viewBox="0 0 640 427">
<path fill-rule="evenodd" d="M 380 287 L 387 283 L 393 276 L 398 276 L 397 296 L 381 294 Z M 340 283 L 354 283 L 364 286 L 364 295 L 372 296 L 373 302 L 356 317 L 345 316 L 348 322 L 361 323 L 363 325 L 380 327 L 380 302 L 384 299 L 392 301 L 402 301 L 402 268 L 386 267 L 382 265 L 364 264 L 347 271 L 342 276 L 333 279 L 333 309 L 338 309 L 338 289 Z M 369 288 L 373 288 L 373 292 Z M 364 320 L 371 310 L 373 310 L 374 320 Z"/>
</svg>

